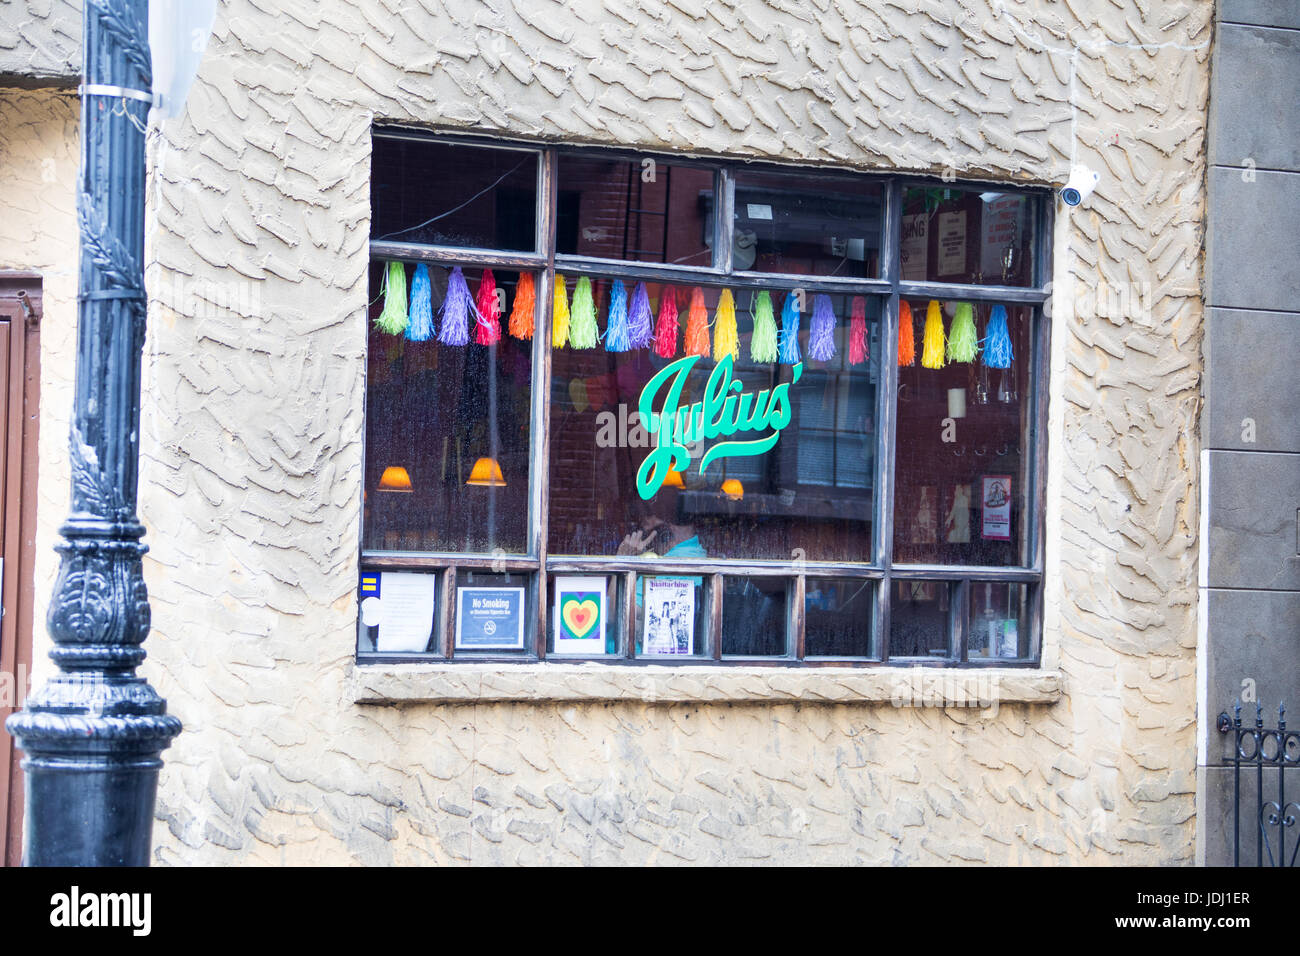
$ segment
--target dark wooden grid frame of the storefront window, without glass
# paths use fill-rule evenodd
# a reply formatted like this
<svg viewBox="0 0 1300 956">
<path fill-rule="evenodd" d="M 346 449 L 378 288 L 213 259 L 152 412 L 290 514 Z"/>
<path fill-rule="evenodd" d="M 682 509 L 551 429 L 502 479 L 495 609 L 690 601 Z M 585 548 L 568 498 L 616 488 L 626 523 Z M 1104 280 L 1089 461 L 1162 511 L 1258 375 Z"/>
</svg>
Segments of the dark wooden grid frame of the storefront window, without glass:
<svg viewBox="0 0 1300 956">
<path fill-rule="evenodd" d="M 536 142 L 486 138 L 454 133 L 432 133 L 406 127 L 380 127 L 372 130 L 374 138 L 413 139 L 462 144 L 473 147 L 508 148 L 536 152 L 538 156 L 537 183 L 537 245 L 533 252 L 502 252 L 493 250 L 430 246 L 411 242 L 391 242 L 372 239 L 369 255 L 372 261 L 402 260 L 406 263 L 426 263 L 445 267 L 500 268 L 529 271 L 537 276 L 538 330 L 551 326 L 551 303 L 554 277 L 589 276 L 621 278 L 630 281 L 668 282 L 672 285 L 715 285 L 733 290 L 803 289 L 815 293 L 848 293 L 874 297 L 880 302 L 880 372 L 876 381 L 876 458 L 875 458 L 875 519 L 872 522 L 874 561 L 827 562 L 802 561 L 798 564 L 785 561 L 742 561 L 742 559 L 664 559 L 621 555 L 550 555 L 547 553 L 547 509 L 550 479 L 550 380 L 551 342 L 549 334 L 533 336 L 533 381 L 530 394 L 530 449 L 529 449 L 529 533 L 524 554 L 458 554 L 448 551 L 410 553 L 372 550 L 363 545 L 359 550 L 359 570 L 365 571 L 425 571 L 437 572 L 438 598 L 436 610 L 433 650 L 413 654 L 394 654 L 377 652 L 358 652 L 359 663 L 398 663 L 398 662 L 451 662 L 456 659 L 474 663 L 499 662 L 540 662 L 547 659 L 549 644 L 549 581 L 558 574 L 607 575 L 619 585 L 616 594 L 621 601 L 619 615 L 619 639 L 615 654 L 593 657 L 563 656 L 554 659 L 566 663 L 578 661 L 645 663 L 645 665 L 698 665 L 714 662 L 719 665 L 736 663 L 745 666 L 879 666 L 883 663 L 906 663 L 909 666 L 931 667 L 1039 667 L 1041 659 L 1043 635 L 1043 568 L 1044 568 L 1044 502 L 1046 488 L 1046 425 L 1048 425 L 1048 356 L 1050 354 L 1050 277 L 1052 277 L 1052 228 L 1054 203 L 1052 191 L 1046 187 L 1026 187 L 1006 182 L 962 179 L 946 182 L 924 177 L 864 173 L 829 168 L 806 168 L 770 163 L 748 163 L 734 159 L 710 159 L 677 156 L 653 151 L 628 151 L 606 147 L 575 147 L 563 144 L 540 144 Z M 580 255 L 558 255 L 556 208 L 558 208 L 558 159 L 562 155 L 599 156 L 602 159 L 624 159 L 637 161 L 646 157 L 660 160 L 675 166 L 707 168 L 714 172 L 712 204 L 714 222 L 714 261 L 708 267 L 685 267 L 659 263 L 638 263 L 618 259 L 599 259 Z M 875 278 L 824 278 L 816 276 L 797 276 L 783 273 L 737 272 L 732 268 L 731 222 L 734 211 L 734 172 L 737 169 L 759 169 L 766 172 L 805 172 L 818 177 L 852 177 L 857 181 L 868 179 L 881 187 L 881 237 L 880 237 L 880 276 Z M 918 282 L 901 278 L 900 247 L 904 190 L 907 187 L 992 187 L 1000 193 L 1014 193 L 1032 200 L 1034 216 L 1032 278 L 1030 286 L 970 285 L 949 282 Z M 898 393 L 898 303 L 901 299 L 961 299 L 975 304 L 1006 304 L 1031 307 L 1030 341 L 1030 412 L 1027 446 L 1030 449 L 1026 471 L 1028 475 L 1030 507 L 1027 509 L 1027 548 L 1030 561 L 1024 564 L 1008 567 L 961 566 L 961 564 L 894 564 L 893 563 L 893 494 L 896 464 L 897 421 L 896 405 Z M 364 473 L 364 470 L 363 470 Z M 364 509 L 363 509 L 364 515 Z M 364 520 L 364 518 L 363 518 Z M 521 572 L 529 578 L 528 604 L 536 610 L 530 635 L 530 645 L 525 641 L 523 653 L 463 654 L 458 658 L 454 649 L 455 633 L 455 580 L 460 571 Z M 703 576 L 703 600 L 706 633 L 701 643 L 707 649 L 705 659 L 692 657 L 685 659 L 663 657 L 637 657 L 634 654 L 636 620 L 634 587 L 637 575 L 692 575 Z M 783 657 L 723 658 L 722 645 L 722 584 L 729 575 L 750 575 L 762 578 L 783 578 L 786 580 L 788 623 L 786 654 Z M 874 613 L 871 622 L 871 657 L 853 658 L 805 658 L 805 587 L 809 578 L 849 578 L 870 579 L 875 583 Z M 889 656 L 889 617 L 890 584 L 894 580 L 932 580 L 954 585 L 950 614 L 950 656 L 944 658 L 900 658 Z M 970 631 L 968 593 L 972 583 L 1008 583 L 1028 585 L 1030 641 L 1028 654 L 1015 659 L 967 659 L 967 635 Z"/>
</svg>

